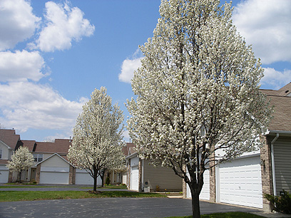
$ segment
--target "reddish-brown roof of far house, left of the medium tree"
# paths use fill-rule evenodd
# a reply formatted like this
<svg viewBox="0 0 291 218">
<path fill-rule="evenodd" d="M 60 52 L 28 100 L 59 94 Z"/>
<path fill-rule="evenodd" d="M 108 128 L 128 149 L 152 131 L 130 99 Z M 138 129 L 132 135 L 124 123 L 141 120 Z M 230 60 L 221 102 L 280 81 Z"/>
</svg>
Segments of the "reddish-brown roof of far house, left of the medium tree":
<svg viewBox="0 0 291 218">
<path fill-rule="evenodd" d="M 56 139 L 55 142 L 36 142 L 34 152 L 68 153 L 68 147 L 72 144 L 69 139 Z"/>
</svg>

